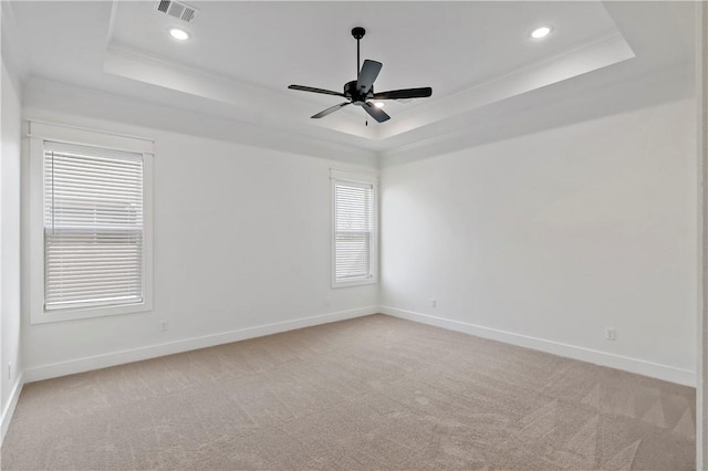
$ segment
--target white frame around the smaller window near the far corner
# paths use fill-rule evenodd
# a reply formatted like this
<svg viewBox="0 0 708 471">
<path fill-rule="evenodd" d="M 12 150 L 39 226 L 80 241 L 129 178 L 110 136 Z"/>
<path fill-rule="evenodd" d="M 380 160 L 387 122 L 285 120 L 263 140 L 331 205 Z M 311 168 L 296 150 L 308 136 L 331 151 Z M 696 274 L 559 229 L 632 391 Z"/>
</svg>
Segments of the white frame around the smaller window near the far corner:
<svg viewBox="0 0 708 471">
<path fill-rule="evenodd" d="M 378 177 L 372 174 L 343 171 L 330 169 L 331 182 L 331 245 L 332 245 L 332 287 L 361 286 L 378 283 Z M 372 247 L 369 251 L 369 271 L 367 276 L 351 280 L 339 280 L 336 278 L 336 199 L 335 188 L 339 182 L 352 182 L 357 185 L 372 186 Z"/>
</svg>

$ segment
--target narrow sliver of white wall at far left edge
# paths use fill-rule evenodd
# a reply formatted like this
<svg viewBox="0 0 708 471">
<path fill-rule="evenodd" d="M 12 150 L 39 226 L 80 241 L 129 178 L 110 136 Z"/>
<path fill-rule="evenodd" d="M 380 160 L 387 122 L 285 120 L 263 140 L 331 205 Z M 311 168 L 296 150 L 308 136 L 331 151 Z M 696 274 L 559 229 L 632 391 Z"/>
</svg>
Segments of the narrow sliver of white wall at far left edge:
<svg viewBox="0 0 708 471">
<path fill-rule="evenodd" d="M 7 430 L 19 393 L 20 357 L 20 92 L 4 62 L 0 161 L 0 425 Z M 12 365 L 8 371 L 8 364 Z"/>
</svg>

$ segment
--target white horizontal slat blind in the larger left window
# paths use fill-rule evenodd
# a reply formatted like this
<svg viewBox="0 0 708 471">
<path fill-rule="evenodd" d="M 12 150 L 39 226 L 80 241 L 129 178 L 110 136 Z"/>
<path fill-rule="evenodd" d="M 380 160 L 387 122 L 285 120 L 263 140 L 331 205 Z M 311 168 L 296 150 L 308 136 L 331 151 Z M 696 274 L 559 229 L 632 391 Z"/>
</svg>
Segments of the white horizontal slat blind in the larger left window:
<svg viewBox="0 0 708 471">
<path fill-rule="evenodd" d="M 44 142 L 44 308 L 144 300 L 142 154 Z"/>
</svg>

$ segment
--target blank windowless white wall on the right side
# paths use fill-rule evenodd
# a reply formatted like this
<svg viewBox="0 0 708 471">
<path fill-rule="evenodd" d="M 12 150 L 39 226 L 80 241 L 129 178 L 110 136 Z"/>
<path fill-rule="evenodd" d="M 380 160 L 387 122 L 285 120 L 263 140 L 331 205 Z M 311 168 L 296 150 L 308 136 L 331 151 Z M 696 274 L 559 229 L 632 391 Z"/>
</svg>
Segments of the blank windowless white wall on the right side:
<svg viewBox="0 0 708 471">
<path fill-rule="evenodd" d="M 695 113 L 683 100 L 387 167 L 384 312 L 694 384 Z"/>
</svg>

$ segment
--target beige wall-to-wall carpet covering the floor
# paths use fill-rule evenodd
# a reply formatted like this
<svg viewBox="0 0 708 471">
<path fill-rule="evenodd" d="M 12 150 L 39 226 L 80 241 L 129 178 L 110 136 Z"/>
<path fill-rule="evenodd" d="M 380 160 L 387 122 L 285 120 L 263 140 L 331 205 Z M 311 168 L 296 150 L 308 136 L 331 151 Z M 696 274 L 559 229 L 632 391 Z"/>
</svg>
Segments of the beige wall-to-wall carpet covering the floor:
<svg viewBox="0 0 708 471">
<path fill-rule="evenodd" d="M 695 390 L 384 315 L 27 385 L 2 469 L 695 467 Z"/>
</svg>

